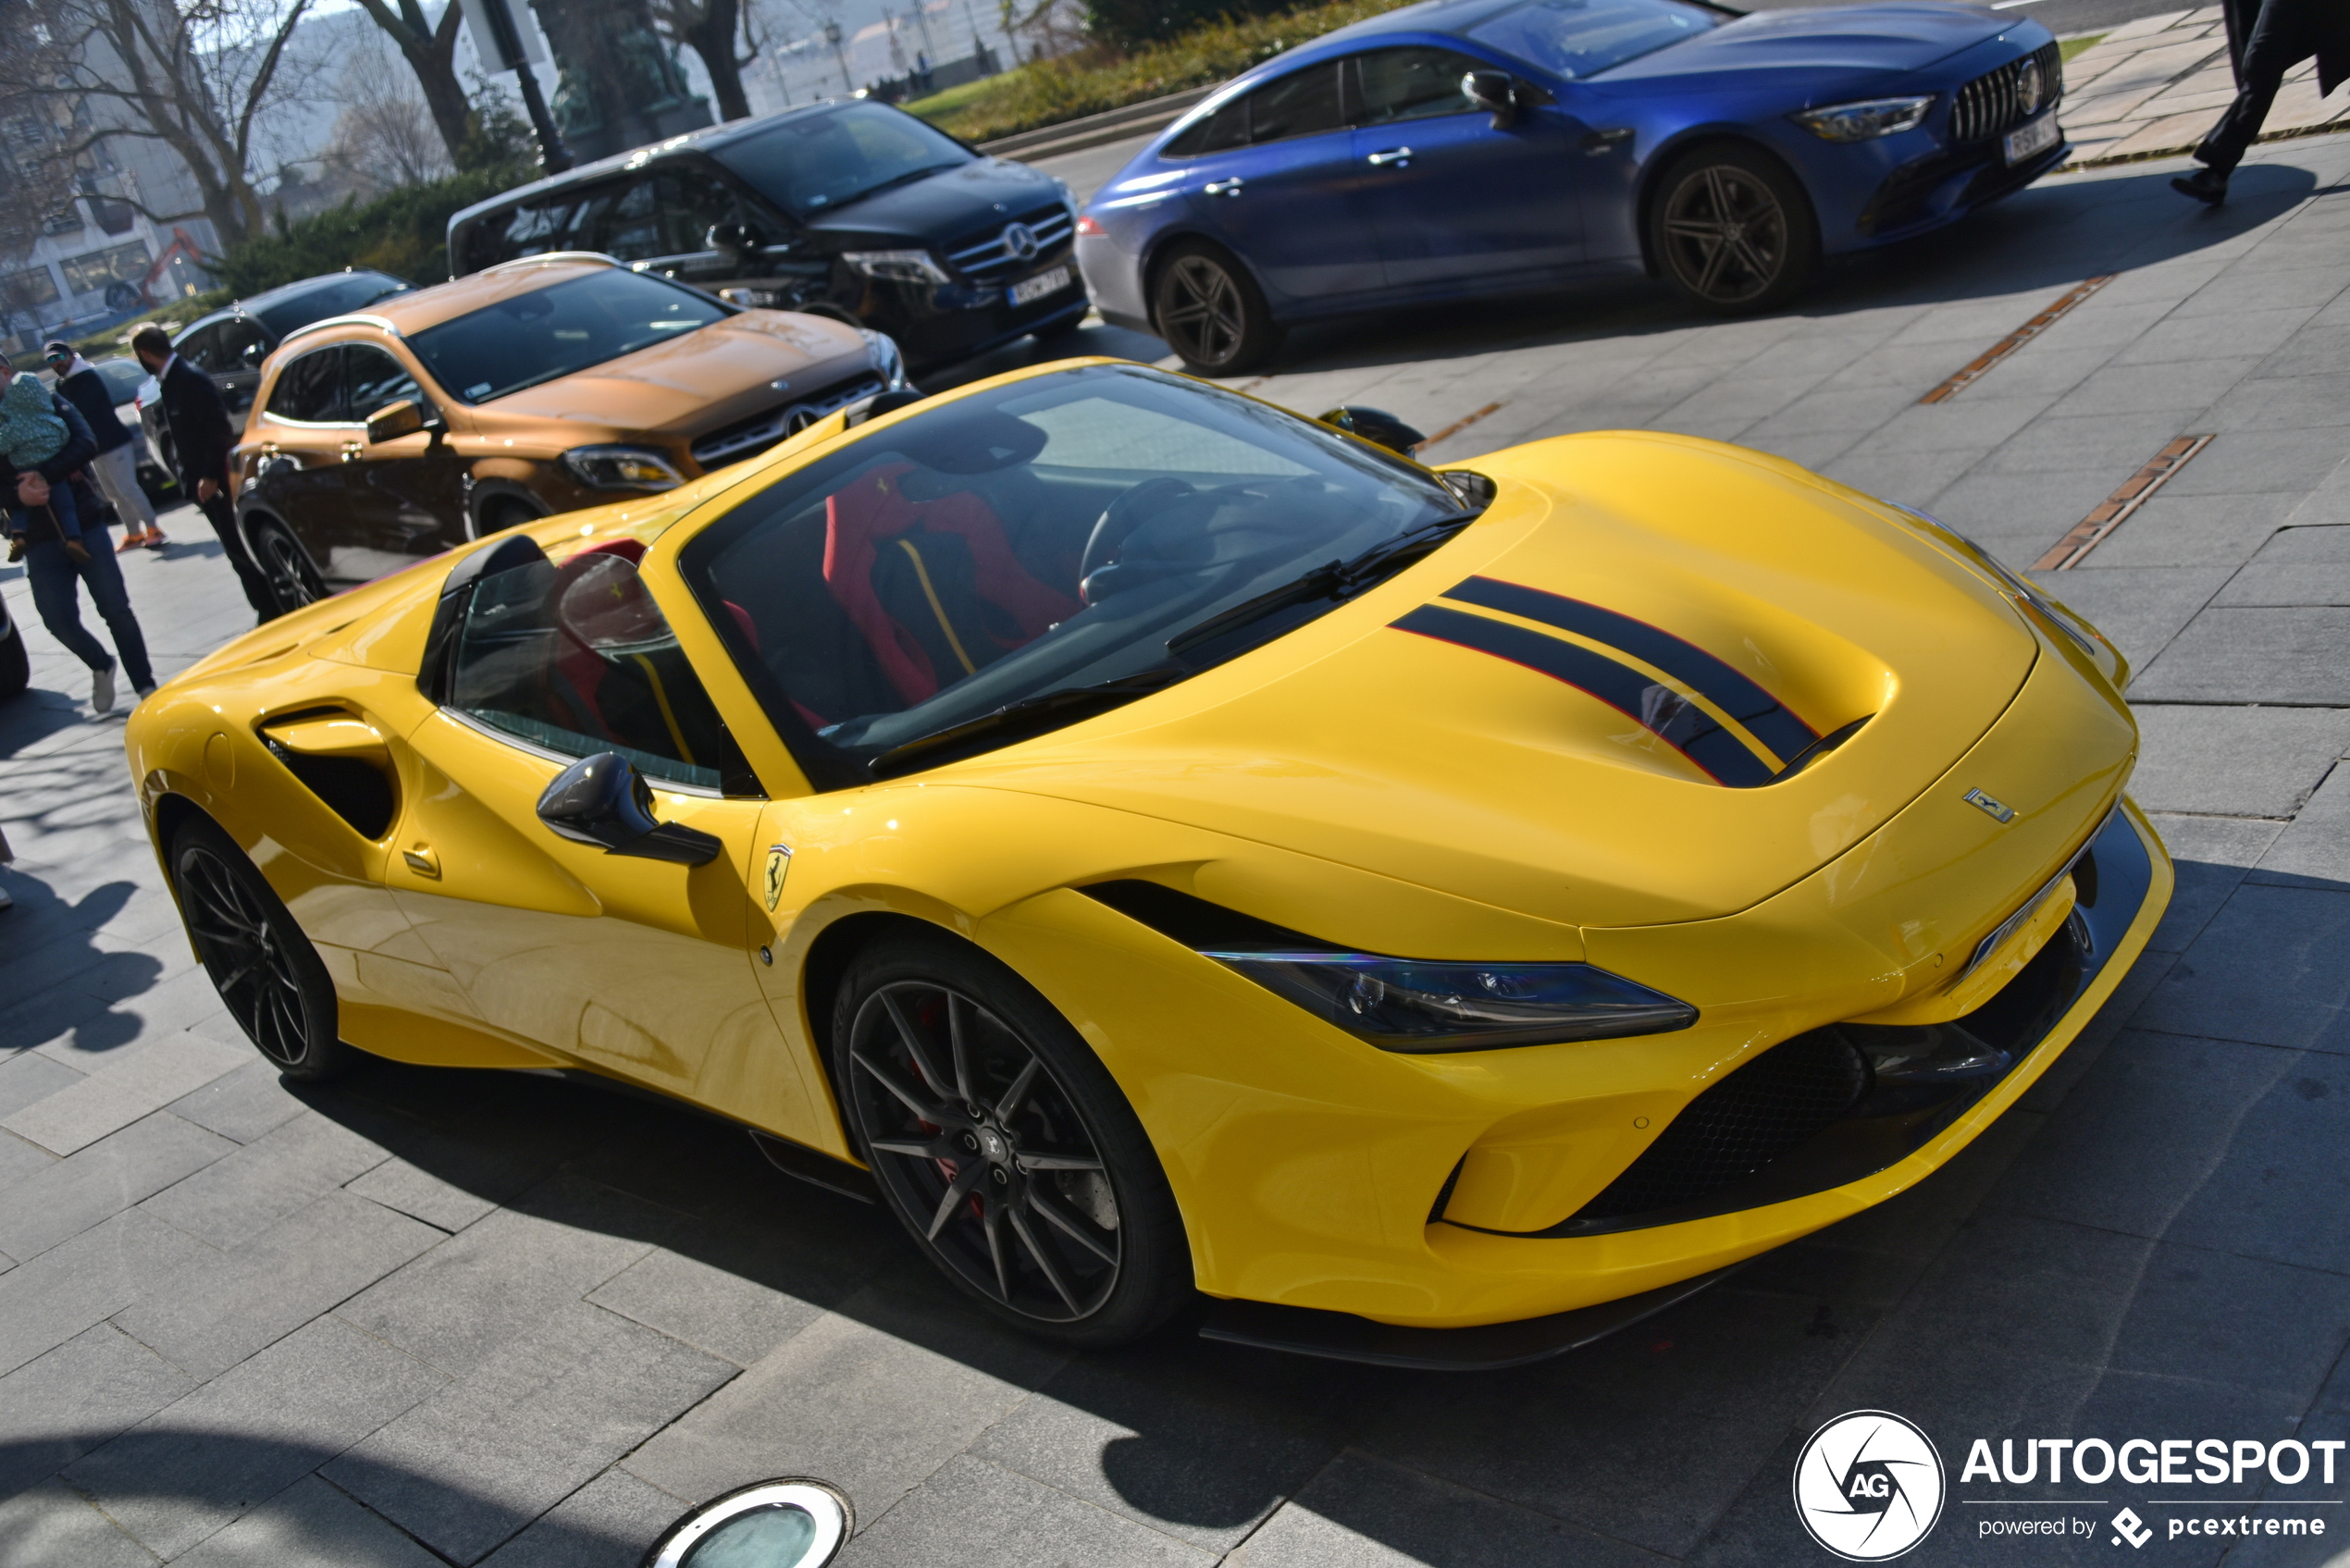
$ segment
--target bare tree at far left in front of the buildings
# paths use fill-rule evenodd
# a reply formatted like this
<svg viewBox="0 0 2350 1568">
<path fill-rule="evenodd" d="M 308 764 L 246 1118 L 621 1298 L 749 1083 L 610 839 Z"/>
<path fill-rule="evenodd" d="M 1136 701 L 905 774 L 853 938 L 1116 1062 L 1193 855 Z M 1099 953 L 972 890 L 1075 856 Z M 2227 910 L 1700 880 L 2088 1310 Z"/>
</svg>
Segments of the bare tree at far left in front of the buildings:
<svg viewBox="0 0 2350 1568">
<path fill-rule="evenodd" d="M 92 125 L 63 148 L 68 158 L 108 136 L 169 146 L 228 249 L 261 233 L 254 122 L 298 92 L 287 40 L 308 9 L 310 0 L 0 0 L 9 38 L 0 96 L 89 106 Z"/>
</svg>

